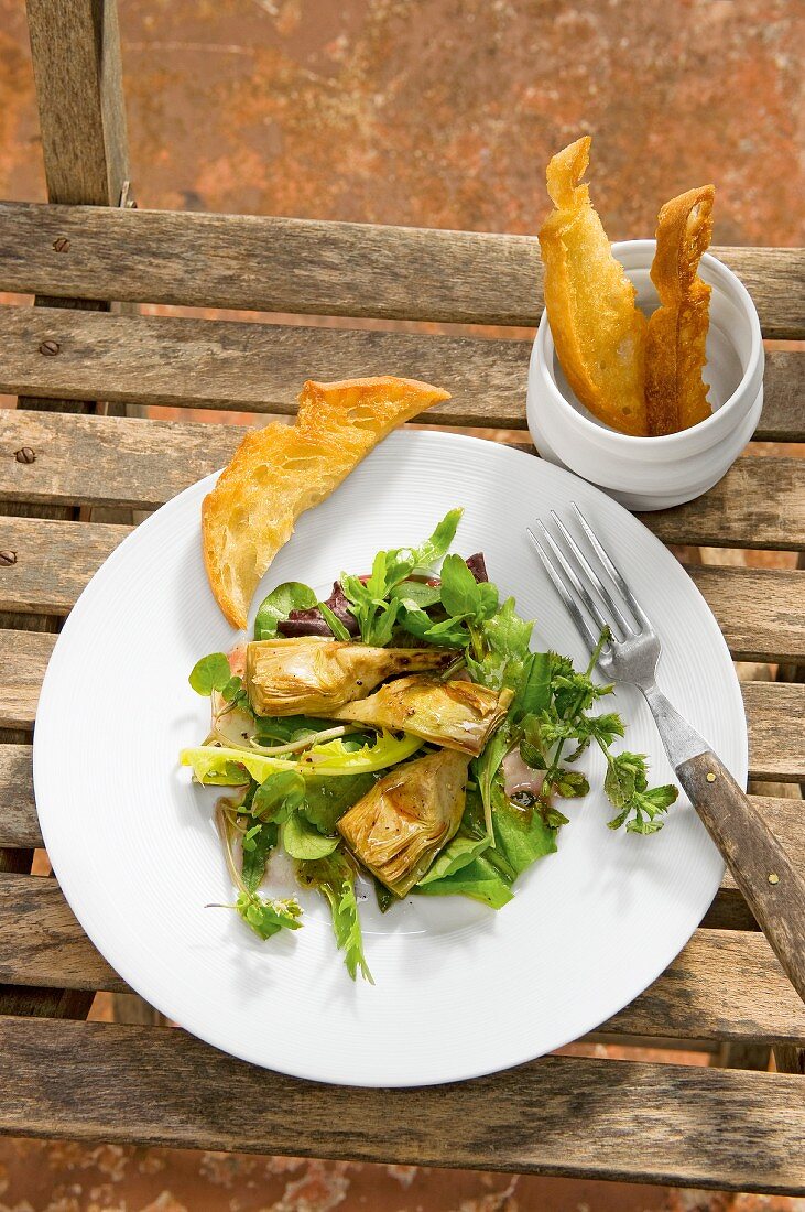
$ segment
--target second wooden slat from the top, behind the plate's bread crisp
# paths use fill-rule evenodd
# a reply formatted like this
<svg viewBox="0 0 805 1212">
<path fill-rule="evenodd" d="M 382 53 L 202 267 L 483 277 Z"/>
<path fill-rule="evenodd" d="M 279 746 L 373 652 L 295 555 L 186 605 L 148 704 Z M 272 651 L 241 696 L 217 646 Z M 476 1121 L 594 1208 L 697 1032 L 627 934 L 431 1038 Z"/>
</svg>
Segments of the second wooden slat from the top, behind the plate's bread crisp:
<svg viewBox="0 0 805 1212">
<path fill-rule="evenodd" d="M 59 353 L 44 356 L 52 341 Z M 306 378 L 392 371 L 437 383 L 426 423 L 525 428 L 530 341 L 0 308 L 0 390 L 128 405 L 295 411 Z M 805 436 L 805 358 L 767 356 L 758 438 Z"/>
</svg>

